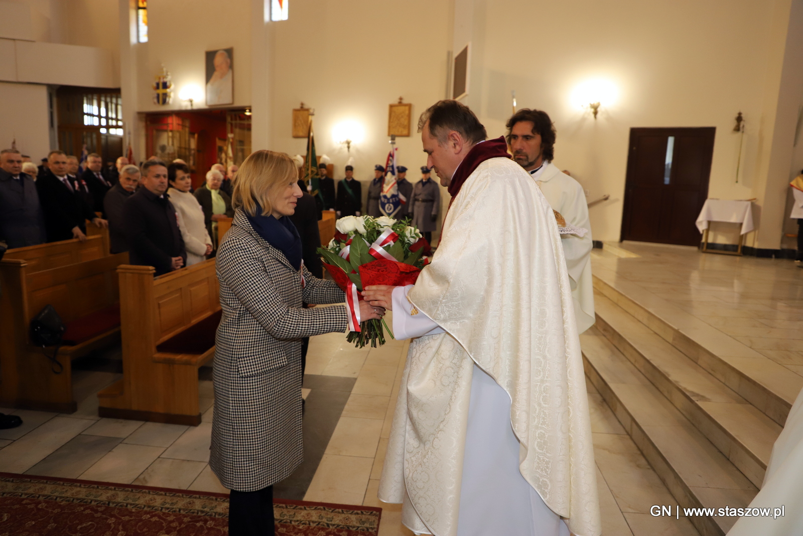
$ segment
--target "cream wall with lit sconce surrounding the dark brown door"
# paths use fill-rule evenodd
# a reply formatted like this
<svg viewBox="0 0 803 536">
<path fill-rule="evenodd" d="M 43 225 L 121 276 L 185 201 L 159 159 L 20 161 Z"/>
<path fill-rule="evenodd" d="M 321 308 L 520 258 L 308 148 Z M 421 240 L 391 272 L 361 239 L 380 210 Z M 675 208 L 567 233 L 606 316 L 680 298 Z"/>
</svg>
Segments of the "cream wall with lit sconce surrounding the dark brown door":
<svg viewBox="0 0 803 536">
<path fill-rule="evenodd" d="M 768 68 L 779 54 L 772 17 L 783 1 L 458 0 L 456 9 L 461 3 L 474 11 L 464 23 L 474 25 L 469 35 L 455 15 L 454 46 L 470 37 L 474 47 L 467 104 L 490 137 L 504 133 L 514 89 L 519 108 L 550 114 L 556 166 L 572 172 L 589 200 L 611 194 L 591 209 L 595 239 L 619 238 L 631 127 L 716 127 L 709 196 L 756 197 L 757 160 L 774 125 L 762 125 Z M 601 108 L 597 121 L 569 99 L 592 78 L 619 89 L 618 102 Z M 740 140 L 732 128 L 739 111 L 747 132 L 737 182 Z"/>
</svg>

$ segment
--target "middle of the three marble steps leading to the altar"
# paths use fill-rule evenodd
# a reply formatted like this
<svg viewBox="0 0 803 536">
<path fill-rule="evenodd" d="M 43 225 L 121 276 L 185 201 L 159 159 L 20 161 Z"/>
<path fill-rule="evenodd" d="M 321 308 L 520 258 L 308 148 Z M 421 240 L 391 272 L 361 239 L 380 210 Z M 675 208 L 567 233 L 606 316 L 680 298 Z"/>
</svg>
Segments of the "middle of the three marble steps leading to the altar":
<svg viewBox="0 0 803 536">
<path fill-rule="evenodd" d="M 781 426 L 608 298 L 597 329 L 756 486 Z"/>
</svg>

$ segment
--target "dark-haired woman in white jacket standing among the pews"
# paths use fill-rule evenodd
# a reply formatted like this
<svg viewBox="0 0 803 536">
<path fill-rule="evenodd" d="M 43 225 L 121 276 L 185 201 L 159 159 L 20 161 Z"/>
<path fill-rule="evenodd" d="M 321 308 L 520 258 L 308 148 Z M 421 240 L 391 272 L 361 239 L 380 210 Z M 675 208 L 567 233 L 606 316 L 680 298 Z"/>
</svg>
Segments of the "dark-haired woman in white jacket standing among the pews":
<svg viewBox="0 0 803 536">
<path fill-rule="evenodd" d="M 187 266 L 190 266 L 205 260 L 212 252 L 212 239 L 206 231 L 201 205 L 190 192 L 190 168 L 186 164 L 170 164 L 167 179 L 170 182 L 167 194 L 178 215 L 178 228 L 187 250 Z"/>
</svg>

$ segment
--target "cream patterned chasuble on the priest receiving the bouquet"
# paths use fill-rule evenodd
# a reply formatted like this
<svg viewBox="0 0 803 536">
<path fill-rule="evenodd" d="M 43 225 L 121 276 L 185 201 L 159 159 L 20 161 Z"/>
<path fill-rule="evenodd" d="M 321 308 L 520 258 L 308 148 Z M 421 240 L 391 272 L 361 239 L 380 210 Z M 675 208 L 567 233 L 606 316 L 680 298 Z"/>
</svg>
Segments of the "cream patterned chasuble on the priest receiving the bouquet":
<svg viewBox="0 0 803 536">
<path fill-rule="evenodd" d="M 466 512 L 461 496 L 468 493 L 463 464 L 476 460 L 479 436 L 472 427 L 483 421 L 482 415 L 470 417 L 477 402 L 507 413 L 527 489 L 573 534 L 600 534 L 585 375 L 563 247 L 551 207 L 516 162 L 491 158 L 467 178 L 432 263 L 407 298 L 410 309 L 443 333 L 410 342 L 381 501 L 403 503 L 402 522 L 419 533 L 481 534 L 459 530 Z M 498 442 L 510 445 L 509 439 Z M 470 477 L 481 482 L 479 473 Z M 530 499 L 532 519 L 544 518 L 536 512 L 536 497 L 516 497 L 522 504 Z M 539 527 L 533 530 L 539 534 Z"/>
</svg>

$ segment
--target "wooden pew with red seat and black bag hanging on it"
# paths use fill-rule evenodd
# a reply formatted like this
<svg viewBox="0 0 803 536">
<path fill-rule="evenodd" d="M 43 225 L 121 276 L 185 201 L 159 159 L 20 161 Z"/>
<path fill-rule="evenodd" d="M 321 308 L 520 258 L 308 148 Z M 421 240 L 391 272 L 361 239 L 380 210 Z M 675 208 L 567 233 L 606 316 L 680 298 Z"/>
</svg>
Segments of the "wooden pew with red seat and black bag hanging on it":
<svg viewBox="0 0 803 536">
<path fill-rule="evenodd" d="M 116 269 L 126 263 L 128 253 L 39 271 L 25 259 L 0 261 L 0 406 L 75 411 L 71 359 L 119 340 Z M 33 346 L 28 336 L 31 319 L 45 305 L 67 327 L 57 354 L 61 374 L 43 354 L 52 356 L 55 348 Z"/>
</svg>

